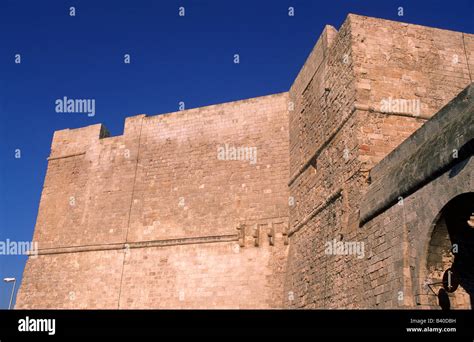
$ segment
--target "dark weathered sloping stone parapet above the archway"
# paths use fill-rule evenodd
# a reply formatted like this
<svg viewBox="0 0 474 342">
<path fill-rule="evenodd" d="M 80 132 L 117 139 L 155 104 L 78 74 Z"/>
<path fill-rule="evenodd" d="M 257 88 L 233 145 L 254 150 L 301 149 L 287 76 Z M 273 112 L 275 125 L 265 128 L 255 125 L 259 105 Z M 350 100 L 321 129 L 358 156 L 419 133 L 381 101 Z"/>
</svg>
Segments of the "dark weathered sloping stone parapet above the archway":
<svg viewBox="0 0 474 342">
<path fill-rule="evenodd" d="M 372 169 L 361 223 L 472 155 L 473 95 L 470 85 Z"/>
</svg>

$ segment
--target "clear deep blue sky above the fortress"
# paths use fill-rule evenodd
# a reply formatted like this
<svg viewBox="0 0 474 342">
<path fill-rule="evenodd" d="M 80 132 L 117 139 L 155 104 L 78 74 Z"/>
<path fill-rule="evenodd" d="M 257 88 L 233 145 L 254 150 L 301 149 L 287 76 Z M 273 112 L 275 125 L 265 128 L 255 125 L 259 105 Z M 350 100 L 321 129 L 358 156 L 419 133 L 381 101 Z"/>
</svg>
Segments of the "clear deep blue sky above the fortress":
<svg viewBox="0 0 474 342">
<path fill-rule="evenodd" d="M 193 108 L 287 91 L 324 25 L 339 28 L 350 12 L 472 33 L 473 4 L 0 0 L 0 241 L 32 239 L 55 130 L 104 123 L 119 135 L 127 116 L 176 111 L 179 101 Z M 95 117 L 56 113 L 63 96 L 95 99 Z M 0 255 L 0 277 L 20 280 L 25 261 Z M 0 308 L 10 289 L 0 283 Z"/>
</svg>

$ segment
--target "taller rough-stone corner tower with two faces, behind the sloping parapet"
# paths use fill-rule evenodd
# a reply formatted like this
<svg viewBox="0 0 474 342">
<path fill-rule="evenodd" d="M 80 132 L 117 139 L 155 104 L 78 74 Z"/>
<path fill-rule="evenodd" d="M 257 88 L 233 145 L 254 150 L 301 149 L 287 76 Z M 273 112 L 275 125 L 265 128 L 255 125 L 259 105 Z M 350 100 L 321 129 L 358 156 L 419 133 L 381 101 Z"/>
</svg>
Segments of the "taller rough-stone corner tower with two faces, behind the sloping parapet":
<svg viewBox="0 0 474 342">
<path fill-rule="evenodd" d="M 359 206 L 372 167 L 471 82 L 472 39 L 357 15 L 337 34 L 325 29 L 309 57 L 311 65 L 320 56 L 316 71 L 303 68 L 290 90 L 289 185 L 296 204 L 285 306 L 413 305 L 397 297 L 411 286 L 403 215 L 360 227 Z M 394 100 L 419 101 L 419 110 L 382 106 Z M 363 242 L 364 256 L 327 254 L 331 241 Z"/>
</svg>

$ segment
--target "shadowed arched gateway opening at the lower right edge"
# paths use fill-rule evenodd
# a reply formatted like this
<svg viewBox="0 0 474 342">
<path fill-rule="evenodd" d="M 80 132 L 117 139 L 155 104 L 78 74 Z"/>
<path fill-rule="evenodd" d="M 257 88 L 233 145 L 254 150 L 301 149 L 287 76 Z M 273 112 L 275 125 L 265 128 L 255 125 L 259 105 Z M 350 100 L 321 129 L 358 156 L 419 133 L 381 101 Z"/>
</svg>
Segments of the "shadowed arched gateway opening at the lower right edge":
<svg viewBox="0 0 474 342">
<path fill-rule="evenodd" d="M 422 277 L 427 308 L 474 308 L 474 192 L 452 198 L 436 216 Z M 468 222 L 470 221 L 470 222 Z"/>
</svg>

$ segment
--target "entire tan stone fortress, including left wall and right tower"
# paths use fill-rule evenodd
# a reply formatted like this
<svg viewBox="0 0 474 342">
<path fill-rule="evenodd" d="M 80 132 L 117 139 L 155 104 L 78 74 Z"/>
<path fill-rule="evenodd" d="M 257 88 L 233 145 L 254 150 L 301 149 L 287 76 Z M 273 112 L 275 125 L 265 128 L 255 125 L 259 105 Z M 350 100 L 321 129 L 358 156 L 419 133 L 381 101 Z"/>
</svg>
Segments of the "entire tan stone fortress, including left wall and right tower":
<svg viewBox="0 0 474 342">
<path fill-rule="evenodd" d="M 428 157 L 472 138 L 472 90 L 433 115 L 471 70 L 473 35 L 351 14 L 287 93 L 56 132 L 17 308 L 437 307 L 472 150 Z"/>
</svg>

